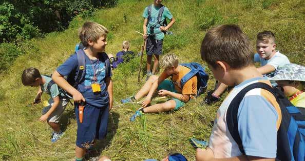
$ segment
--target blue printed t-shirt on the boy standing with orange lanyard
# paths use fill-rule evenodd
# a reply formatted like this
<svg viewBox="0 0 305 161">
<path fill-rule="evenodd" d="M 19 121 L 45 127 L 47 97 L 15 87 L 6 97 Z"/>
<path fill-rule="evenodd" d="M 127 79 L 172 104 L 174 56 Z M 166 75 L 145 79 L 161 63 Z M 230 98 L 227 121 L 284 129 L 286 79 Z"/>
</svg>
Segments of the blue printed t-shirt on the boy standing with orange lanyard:
<svg viewBox="0 0 305 161">
<path fill-rule="evenodd" d="M 109 104 L 109 94 L 106 86 L 106 65 L 102 56 L 96 60 L 90 60 L 85 54 L 86 58 L 86 74 L 85 81 L 79 84 L 78 91 L 86 99 L 86 103 L 96 106 L 105 107 Z M 56 70 L 64 76 L 68 76 L 71 72 L 75 72 L 78 68 L 77 54 L 71 55 L 65 63 L 59 66 Z M 96 83 L 100 84 L 101 92 L 93 93 L 91 84 L 94 83 L 94 73 L 97 77 Z M 75 73 L 76 74 L 76 73 Z M 111 76 L 111 73 L 110 73 Z"/>
</svg>

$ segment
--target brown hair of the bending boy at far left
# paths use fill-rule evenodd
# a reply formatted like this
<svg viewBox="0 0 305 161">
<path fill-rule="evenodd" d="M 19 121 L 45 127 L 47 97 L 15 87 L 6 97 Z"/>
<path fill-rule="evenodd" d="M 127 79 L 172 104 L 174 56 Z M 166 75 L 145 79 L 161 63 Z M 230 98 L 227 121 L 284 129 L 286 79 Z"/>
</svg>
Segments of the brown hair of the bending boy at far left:
<svg viewBox="0 0 305 161">
<path fill-rule="evenodd" d="M 39 70 L 31 67 L 23 71 L 21 82 L 23 85 L 29 86 L 34 83 L 37 78 L 41 78 Z"/>
</svg>

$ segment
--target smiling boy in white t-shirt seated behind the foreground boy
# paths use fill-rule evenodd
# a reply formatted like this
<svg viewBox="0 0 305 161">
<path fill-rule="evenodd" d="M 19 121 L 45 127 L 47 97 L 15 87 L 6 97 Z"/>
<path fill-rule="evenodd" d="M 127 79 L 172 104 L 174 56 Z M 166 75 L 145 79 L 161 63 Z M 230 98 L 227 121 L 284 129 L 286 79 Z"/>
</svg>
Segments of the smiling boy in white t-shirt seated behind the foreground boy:
<svg viewBox="0 0 305 161">
<path fill-rule="evenodd" d="M 290 64 L 289 59 L 284 54 L 276 51 L 275 35 L 271 31 L 263 31 L 257 34 L 256 51 L 254 62 L 260 62 L 257 70 L 263 75 L 274 73 L 280 65 Z M 204 99 L 204 103 L 212 104 L 217 102 L 220 95 L 226 90 L 227 85 L 218 83 L 215 91 L 209 91 Z"/>
</svg>

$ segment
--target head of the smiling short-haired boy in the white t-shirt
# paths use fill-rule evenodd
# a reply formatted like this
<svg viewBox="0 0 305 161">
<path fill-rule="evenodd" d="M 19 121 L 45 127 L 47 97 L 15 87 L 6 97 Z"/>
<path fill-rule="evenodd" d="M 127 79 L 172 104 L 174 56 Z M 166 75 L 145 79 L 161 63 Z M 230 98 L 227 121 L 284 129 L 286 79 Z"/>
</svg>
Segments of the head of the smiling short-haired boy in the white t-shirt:
<svg viewBox="0 0 305 161">
<path fill-rule="evenodd" d="M 256 51 L 262 58 L 270 59 L 275 53 L 275 35 L 271 31 L 263 31 L 257 34 Z"/>
</svg>

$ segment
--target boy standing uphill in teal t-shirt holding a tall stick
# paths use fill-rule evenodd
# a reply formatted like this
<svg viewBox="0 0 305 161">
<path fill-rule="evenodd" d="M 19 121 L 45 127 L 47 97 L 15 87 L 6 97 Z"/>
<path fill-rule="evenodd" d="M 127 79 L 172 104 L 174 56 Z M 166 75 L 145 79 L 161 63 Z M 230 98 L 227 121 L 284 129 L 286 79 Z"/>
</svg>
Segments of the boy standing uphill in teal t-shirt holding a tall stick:
<svg viewBox="0 0 305 161">
<path fill-rule="evenodd" d="M 147 54 L 147 78 L 156 74 L 159 64 L 159 56 L 162 54 L 162 45 L 164 39 L 164 32 L 168 30 L 175 23 L 175 18 L 169 12 L 168 8 L 161 4 L 162 0 L 154 0 L 153 5 L 149 5 L 143 12 L 144 24 L 143 33 L 146 43 Z M 166 23 L 166 18 L 170 19 L 169 24 Z M 151 58 L 154 55 L 153 72 L 150 71 Z"/>
</svg>

